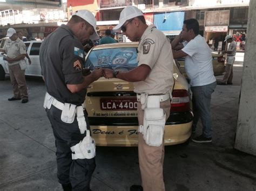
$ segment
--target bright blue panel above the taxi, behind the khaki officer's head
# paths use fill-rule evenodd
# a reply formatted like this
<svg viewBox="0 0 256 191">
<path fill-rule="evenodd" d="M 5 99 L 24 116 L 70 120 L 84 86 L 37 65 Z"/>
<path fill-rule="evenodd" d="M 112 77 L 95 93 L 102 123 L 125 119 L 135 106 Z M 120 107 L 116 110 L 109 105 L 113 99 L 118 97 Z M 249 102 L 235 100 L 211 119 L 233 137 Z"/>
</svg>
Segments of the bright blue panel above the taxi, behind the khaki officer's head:
<svg viewBox="0 0 256 191">
<path fill-rule="evenodd" d="M 154 15 L 154 25 L 166 35 L 177 35 L 180 33 L 185 12 L 165 12 Z"/>
</svg>

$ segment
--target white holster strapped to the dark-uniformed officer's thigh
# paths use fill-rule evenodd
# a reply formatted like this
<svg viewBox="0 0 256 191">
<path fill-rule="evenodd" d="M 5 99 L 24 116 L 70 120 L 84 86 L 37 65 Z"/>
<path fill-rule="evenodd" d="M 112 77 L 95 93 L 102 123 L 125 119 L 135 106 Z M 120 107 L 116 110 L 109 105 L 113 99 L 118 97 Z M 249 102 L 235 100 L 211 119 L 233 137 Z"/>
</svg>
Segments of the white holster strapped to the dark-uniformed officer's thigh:
<svg viewBox="0 0 256 191">
<path fill-rule="evenodd" d="M 78 144 L 71 147 L 72 159 L 92 159 L 96 155 L 95 140 L 90 136 L 90 131 L 86 130 L 86 136 Z"/>
</svg>

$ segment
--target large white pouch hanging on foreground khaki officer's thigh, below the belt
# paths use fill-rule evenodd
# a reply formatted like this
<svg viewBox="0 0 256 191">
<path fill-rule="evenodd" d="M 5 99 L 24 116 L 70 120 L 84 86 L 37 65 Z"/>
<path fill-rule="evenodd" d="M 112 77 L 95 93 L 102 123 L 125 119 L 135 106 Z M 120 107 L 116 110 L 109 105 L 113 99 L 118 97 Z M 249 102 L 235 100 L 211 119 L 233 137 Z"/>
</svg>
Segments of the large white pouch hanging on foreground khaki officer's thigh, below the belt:
<svg viewBox="0 0 256 191">
<path fill-rule="evenodd" d="M 161 108 L 146 108 L 144 111 L 143 138 L 147 145 L 163 143 L 166 114 Z"/>
</svg>

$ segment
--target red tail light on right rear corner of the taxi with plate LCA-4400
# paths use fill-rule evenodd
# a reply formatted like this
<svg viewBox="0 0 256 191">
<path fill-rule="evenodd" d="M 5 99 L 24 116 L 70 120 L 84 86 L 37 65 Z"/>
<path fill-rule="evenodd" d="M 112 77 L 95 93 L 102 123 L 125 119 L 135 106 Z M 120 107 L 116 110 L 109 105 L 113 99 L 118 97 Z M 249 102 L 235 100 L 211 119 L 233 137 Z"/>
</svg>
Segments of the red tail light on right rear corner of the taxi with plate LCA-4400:
<svg viewBox="0 0 256 191">
<path fill-rule="evenodd" d="M 190 110 L 190 97 L 187 90 L 178 89 L 172 92 L 171 112 L 185 112 Z"/>
</svg>

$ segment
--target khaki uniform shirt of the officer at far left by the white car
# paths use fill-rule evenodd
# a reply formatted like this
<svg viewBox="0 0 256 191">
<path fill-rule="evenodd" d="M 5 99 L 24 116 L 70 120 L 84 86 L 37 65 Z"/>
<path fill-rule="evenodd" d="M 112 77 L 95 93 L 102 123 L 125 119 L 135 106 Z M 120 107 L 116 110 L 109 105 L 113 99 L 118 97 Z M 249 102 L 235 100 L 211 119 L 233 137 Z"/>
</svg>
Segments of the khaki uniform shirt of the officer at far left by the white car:
<svg viewBox="0 0 256 191">
<path fill-rule="evenodd" d="M 15 41 L 12 41 L 11 39 L 6 40 L 3 49 L 5 50 L 6 55 L 10 58 L 15 58 L 16 56 L 21 54 L 26 54 L 26 45 L 19 38 L 17 38 Z M 16 65 L 17 63 L 19 63 L 19 61 L 11 63 L 8 62 L 8 65 L 12 66 Z"/>
</svg>

